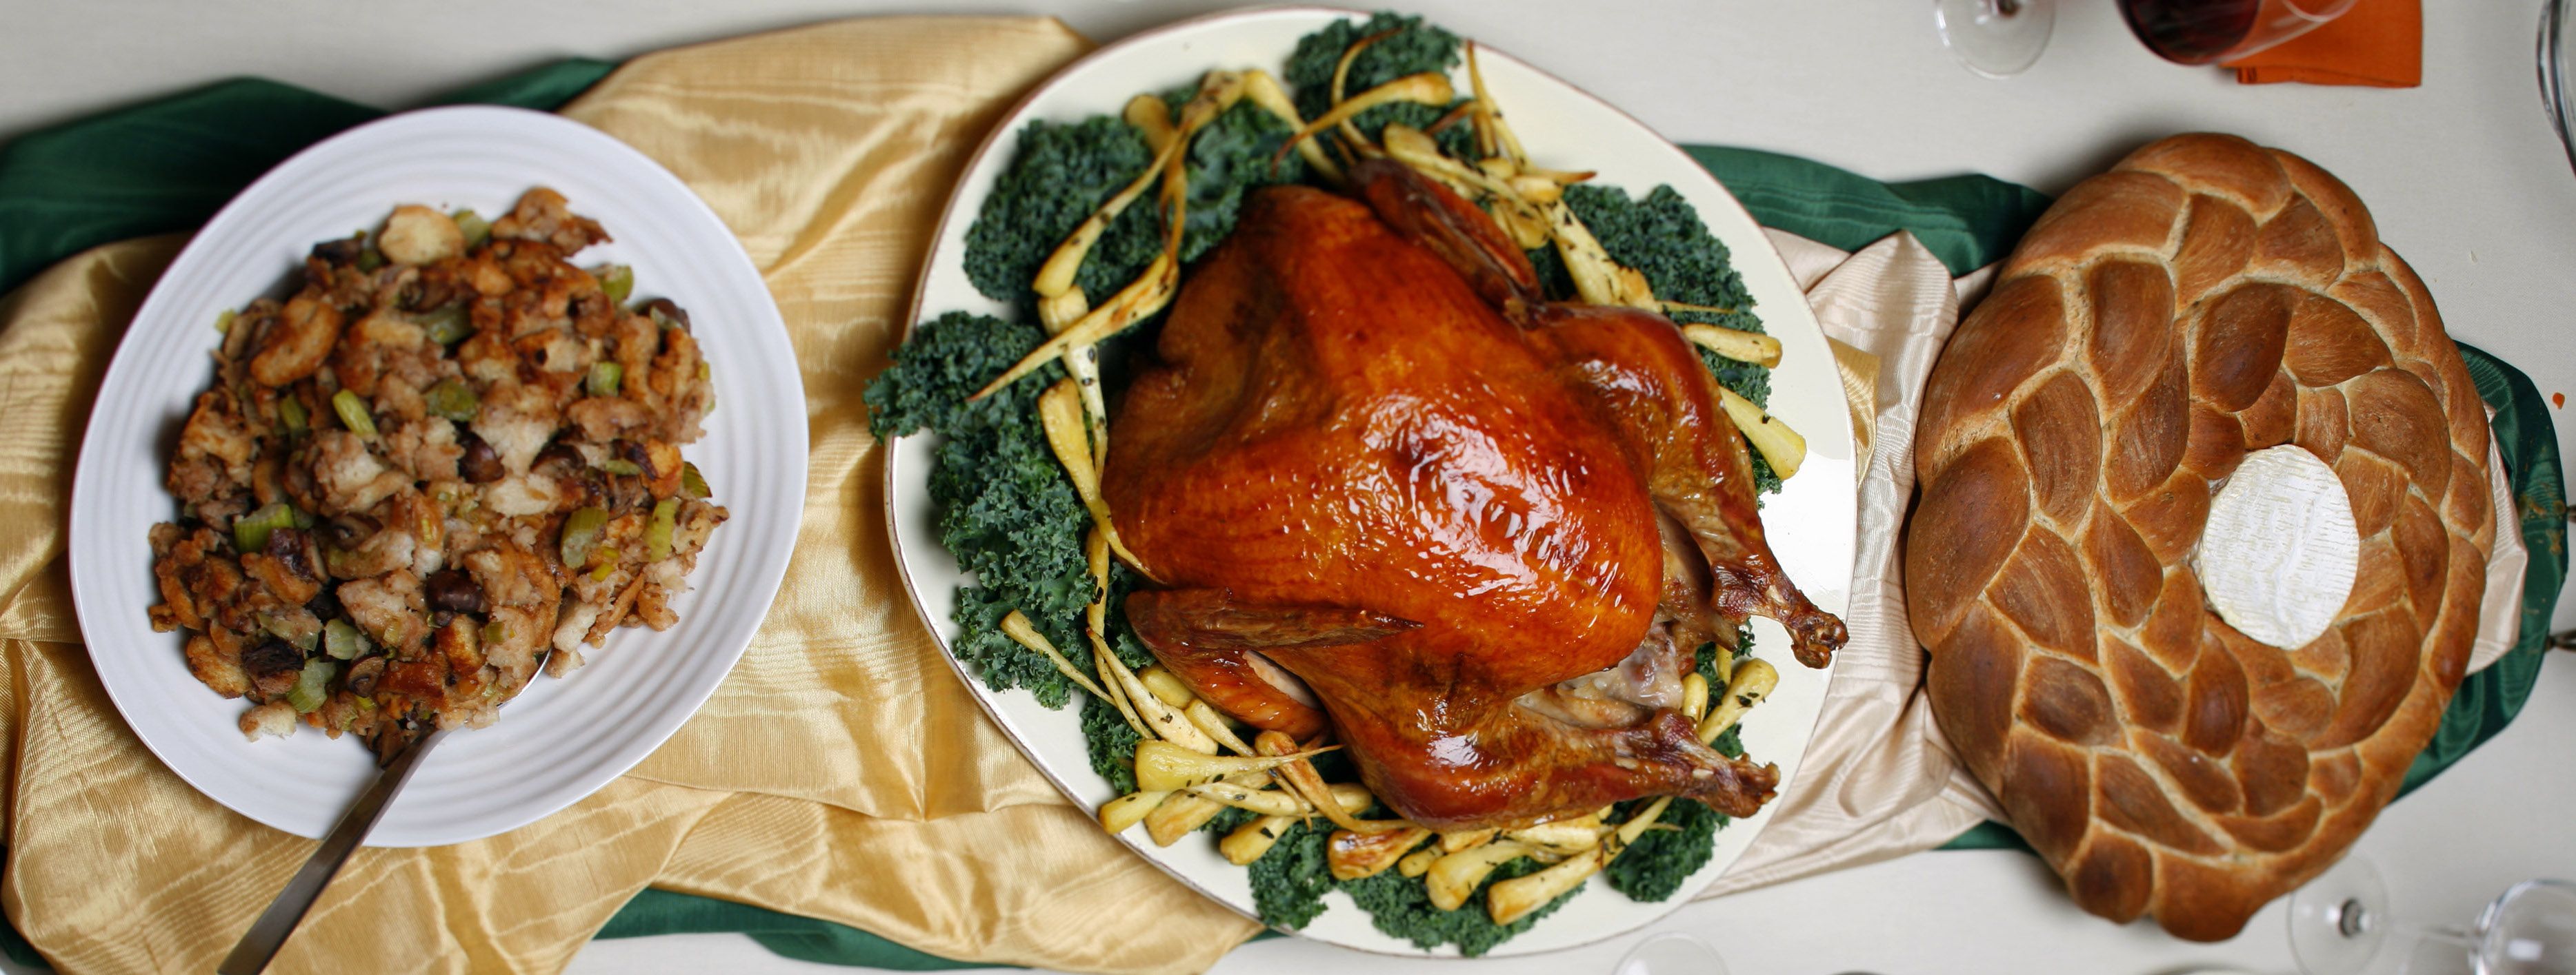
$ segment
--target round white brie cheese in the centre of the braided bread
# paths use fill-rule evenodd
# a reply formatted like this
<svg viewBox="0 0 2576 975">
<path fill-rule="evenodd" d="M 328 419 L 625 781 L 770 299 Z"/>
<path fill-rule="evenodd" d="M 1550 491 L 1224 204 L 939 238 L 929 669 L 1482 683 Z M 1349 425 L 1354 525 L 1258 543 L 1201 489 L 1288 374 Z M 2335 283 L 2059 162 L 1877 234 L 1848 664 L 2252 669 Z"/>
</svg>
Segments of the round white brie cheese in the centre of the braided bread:
<svg viewBox="0 0 2576 975">
<path fill-rule="evenodd" d="M 2298 445 L 2254 450 L 2210 499 L 2192 569 L 2236 633 L 2298 648 L 2352 597 L 2362 535 L 2326 460 Z"/>
</svg>

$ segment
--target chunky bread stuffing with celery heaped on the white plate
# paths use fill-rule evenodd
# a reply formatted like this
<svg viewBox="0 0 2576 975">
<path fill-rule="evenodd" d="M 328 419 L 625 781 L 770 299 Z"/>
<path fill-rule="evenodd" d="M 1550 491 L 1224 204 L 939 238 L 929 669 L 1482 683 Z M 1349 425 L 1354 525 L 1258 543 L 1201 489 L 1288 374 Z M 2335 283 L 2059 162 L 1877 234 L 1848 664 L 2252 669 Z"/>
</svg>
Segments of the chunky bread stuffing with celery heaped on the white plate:
<svg viewBox="0 0 2576 975">
<path fill-rule="evenodd" d="M 155 630 L 252 702 L 240 731 L 392 754 L 482 728 L 544 661 L 677 623 L 726 509 L 680 448 L 714 409 L 688 311 L 546 188 L 489 234 L 399 206 L 314 244 L 294 296 L 222 319 L 152 527 Z M 685 471 L 685 476 L 683 476 Z"/>
</svg>

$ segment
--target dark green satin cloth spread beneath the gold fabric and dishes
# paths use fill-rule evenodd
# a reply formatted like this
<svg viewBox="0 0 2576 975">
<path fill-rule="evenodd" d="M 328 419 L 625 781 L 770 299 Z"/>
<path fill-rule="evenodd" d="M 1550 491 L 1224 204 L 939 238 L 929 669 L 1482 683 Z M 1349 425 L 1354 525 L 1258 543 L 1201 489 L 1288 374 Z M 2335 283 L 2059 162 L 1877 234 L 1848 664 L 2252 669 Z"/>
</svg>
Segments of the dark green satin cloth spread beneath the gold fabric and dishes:
<svg viewBox="0 0 2576 975">
<path fill-rule="evenodd" d="M 616 64 L 572 59 L 435 103 L 556 108 L 611 69 Z M 198 226 L 296 149 L 381 116 L 379 108 L 291 85 L 232 80 L 31 131 L 0 147 L 0 293 L 80 250 Z M 1984 175 L 1878 183 L 1777 152 L 1685 149 L 1765 226 L 1842 250 L 1906 229 L 1953 275 L 2002 260 L 2048 208 L 2048 196 Z M 2406 790 L 2494 738 L 2522 710 L 2540 674 L 2550 612 L 2568 571 L 2558 437 L 2540 391 L 2494 355 L 2468 345 L 2460 352 L 2478 394 L 2496 406 L 2496 440 L 2512 471 L 2532 569 L 2522 594 L 2522 643 L 2460 687 L 2432 746 L 2409 769 Z M 2009 828 L 1986 823 L 1945 849 L 1976 846 L 2022 844 Z M 696 931 L 742 931 L 770 952 L 806 962 L 976 967 L 853 926 L 670 890 L 639 893 L 600 936 Z M 0 954 L 41 965 L 15 929 L 0 931 Z"/>
</svg>

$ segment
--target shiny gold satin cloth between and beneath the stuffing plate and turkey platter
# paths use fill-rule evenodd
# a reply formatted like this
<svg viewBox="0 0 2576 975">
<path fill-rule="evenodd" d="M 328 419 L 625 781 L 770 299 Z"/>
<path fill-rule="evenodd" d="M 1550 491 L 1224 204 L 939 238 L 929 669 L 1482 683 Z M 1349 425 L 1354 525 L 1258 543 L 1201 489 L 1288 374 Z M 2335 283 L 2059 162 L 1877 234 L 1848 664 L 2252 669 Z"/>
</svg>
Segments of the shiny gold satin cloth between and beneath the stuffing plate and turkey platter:
<svg viewBox="0 0 2576 975">
<path fill-rule="evenodd" d="M 639 57 L 564 108 L 677 172 L 778 296 L 811 424 L 786 587 L 644 764 L 502 836 L 358 852 L 273 972 L 551 972 L 647 885 L 997 965 L 1195 972 L 1257 929 L 1020 759 L 914 620 L 886 545 L 860 388 L 904 329 L 966 154 L 1087 49 L 1041 18 L 829 23 Z M 64 972 L 214 970 L 314 849 L 144 751 L 72 620 L 62 525 L 82 419 L 178 244 L 98 247 L 0 304 L 0 759 L 18 772 L 0 785 L 0 906 Z"/>
</svg>

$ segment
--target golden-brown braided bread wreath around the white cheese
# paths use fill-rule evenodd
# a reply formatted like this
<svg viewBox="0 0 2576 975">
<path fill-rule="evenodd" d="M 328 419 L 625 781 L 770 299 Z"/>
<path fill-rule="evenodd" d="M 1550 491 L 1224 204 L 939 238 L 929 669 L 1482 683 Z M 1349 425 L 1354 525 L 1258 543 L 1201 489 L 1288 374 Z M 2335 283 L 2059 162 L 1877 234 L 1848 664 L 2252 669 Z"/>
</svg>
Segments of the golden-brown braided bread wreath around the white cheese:
<svg viewBox="0 0 2576 975">
<path fill-rule="evenodd" d="M 2172 136 L 2040 216 L 1932 368 L 1906 589 L 1940 728 L 2084 911 L 2226 939 L 2370 826 L 2476 638 L 2486 437 L 2424 283 L 2308 159 Z M 2282 442 L 2360 533 L 2295 648 L 2192 571 Z"/>
</svg>

